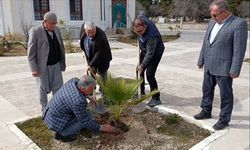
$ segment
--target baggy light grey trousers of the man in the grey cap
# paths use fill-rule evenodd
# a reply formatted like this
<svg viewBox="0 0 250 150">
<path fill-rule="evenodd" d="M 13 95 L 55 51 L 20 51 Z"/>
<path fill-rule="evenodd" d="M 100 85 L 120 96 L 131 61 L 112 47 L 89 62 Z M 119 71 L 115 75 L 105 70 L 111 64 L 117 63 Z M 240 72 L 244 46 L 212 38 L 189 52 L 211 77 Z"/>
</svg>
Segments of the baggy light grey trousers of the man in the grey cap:
<svg viewBox="0 0 250 150">
<path fill-rule="evenodd" d="M 37 77 L 38 96 L 42 108 L 48 103 L 47 94 L 52 91 L 54 95 L 57 90 L 63 85 L 62 71 L 60 63 L 46 66 L 45 72 L 42 76 Z"/>
</svg>

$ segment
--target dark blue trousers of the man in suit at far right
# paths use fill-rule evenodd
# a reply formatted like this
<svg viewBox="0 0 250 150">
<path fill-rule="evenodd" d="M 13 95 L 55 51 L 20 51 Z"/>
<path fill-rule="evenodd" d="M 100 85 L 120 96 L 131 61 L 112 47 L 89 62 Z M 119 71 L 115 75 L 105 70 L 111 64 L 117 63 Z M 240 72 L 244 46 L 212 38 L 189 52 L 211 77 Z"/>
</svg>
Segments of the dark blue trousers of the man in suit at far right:
<svg viewBox="0 0 250 150">
<path fill-rule="evenodd" d="M 204 72 L 204 79 L 202 84 L 202 102 L 201 108 L 206 112 L 212 112 L 212 105 L 214 99 L 214 89 L 218 84 L 220 89 L 220 119 L 228 123 L 231 120 L 233 111 L 233 79 L 230 76 L 216 76 L 209 72 Z"/>
</svg>

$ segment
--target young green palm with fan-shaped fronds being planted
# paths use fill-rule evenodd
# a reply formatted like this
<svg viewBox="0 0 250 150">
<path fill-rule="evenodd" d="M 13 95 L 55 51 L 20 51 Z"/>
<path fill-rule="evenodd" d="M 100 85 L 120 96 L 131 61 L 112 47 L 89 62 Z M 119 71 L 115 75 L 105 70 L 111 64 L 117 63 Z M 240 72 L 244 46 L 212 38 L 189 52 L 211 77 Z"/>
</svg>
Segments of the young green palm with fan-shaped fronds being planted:
<svg viewBox="0 0 250 150">
<path fill-rule="evenodd" d="M 133 97 L 137 94 L 142 80 L 114 78 L 111 74 L 108 74 L 106 81 L 101 80 L 97 76 L 95 78 L 106 97 L 106 104 L 110 104 L 109 107 L 116 120 L 119 120 L 125 107 L 136 105 L 158 92 L 157 90 L 152 91 L 144 97 L 135 100 Z"/>
</svg>

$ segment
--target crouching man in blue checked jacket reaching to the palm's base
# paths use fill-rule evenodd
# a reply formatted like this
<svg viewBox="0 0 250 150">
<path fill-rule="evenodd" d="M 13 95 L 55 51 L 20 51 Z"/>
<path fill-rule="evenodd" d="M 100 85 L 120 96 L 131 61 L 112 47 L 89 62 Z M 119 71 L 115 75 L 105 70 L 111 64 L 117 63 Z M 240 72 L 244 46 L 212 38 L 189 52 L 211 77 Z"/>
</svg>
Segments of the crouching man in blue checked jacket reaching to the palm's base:
<svg viewBox="0 0 250 150">
<path fill-rule="evenodd" d="M 115 132 L 115 127 L 96 123 L 92 114 L 86 110 L 87 100 L 93 98 L 96 81 L 90 76 L 72 78 L 65 83 L 46 106 L 43 120 L 48 128 L 55 132 L 55 139 L 71 142 L 83 128 L 93 132 Z"/>
</svg>

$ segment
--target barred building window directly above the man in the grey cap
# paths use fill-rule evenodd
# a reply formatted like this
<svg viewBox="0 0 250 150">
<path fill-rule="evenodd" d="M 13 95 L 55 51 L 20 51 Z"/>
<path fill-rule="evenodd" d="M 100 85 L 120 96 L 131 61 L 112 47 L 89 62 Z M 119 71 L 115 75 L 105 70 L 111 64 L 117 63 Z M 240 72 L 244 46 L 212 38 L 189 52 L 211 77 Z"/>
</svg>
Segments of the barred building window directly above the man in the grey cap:
<svg viewBox="0 0 250 150">
<path fill-rule="evenodd" d="M 33 0 L 35 20 L 43 20 L 43 16 L 49 9 L 49 0 Z"/>
</svg>

